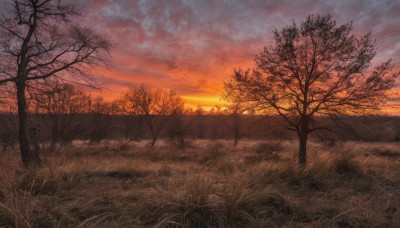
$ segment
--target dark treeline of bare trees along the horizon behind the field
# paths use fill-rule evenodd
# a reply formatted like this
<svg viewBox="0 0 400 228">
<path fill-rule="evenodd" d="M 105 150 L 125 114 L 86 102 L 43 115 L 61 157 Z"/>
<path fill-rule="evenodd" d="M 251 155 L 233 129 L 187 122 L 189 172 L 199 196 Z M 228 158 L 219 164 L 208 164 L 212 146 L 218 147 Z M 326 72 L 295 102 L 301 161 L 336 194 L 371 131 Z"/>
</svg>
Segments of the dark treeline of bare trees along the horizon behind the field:
<svg viewBox="0 0 400 228">
<path fill-rule="evenodd" d="M 295 139 L 279 116 L 243 114 L 238 105 L 186 108 L 174 90 L 152 88 L 146 84 L 131 87 L 121 97 L 107 101 L 91 96 L 68 83 L 53 81 L 29 93 L 29 118 L 32 137 L 45 150 L 56 151 L 73 140 L 99 143 L 102 140 L 148 139 L 155 145 L 168 139 L 184 149 L 190 139 Z M 8 104 L 12 107 L 12 104 Z M 3 150 L 16 144 L 16 114 L 0 116 Z M 340 122 L 319 118 L 330 126 L 316 140 L 400 141 L 398 117 L 346 117 Z M 125 145 L 125 144 L 123 144 Z"/>
</svg>

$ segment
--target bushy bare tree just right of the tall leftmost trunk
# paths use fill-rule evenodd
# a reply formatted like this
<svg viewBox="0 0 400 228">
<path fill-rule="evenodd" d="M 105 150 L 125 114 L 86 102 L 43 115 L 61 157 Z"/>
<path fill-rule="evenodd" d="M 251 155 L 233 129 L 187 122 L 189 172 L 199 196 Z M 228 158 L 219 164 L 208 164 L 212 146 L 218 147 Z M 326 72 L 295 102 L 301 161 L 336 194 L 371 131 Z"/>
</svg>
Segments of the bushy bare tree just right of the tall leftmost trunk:
<svg viewBox="0 0 400 228">
<path fill-rule="evenodd" d="M 50 130 L 50 152 L 70 143 L 82 125 L 79 115 L 87 112 L 90 96 L 72 84 L 52 80 L 42 91 L 34 91 L 33 102 L 38 115 Z"/>
</svg>

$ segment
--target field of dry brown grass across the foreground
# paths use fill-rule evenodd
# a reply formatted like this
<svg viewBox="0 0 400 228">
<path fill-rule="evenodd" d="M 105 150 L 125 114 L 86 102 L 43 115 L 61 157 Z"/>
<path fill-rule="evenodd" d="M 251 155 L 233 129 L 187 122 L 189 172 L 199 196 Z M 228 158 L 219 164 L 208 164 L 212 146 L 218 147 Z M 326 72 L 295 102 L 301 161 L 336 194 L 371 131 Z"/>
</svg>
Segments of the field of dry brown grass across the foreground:
<svg viewBox="0 0 400 228">
<path fill-rule="evenodd" d="M 400 146 L 296 141 L 74 142 L 23 170 L 0 159 L 5 227 L 398 227 Z"/>
</svg>

